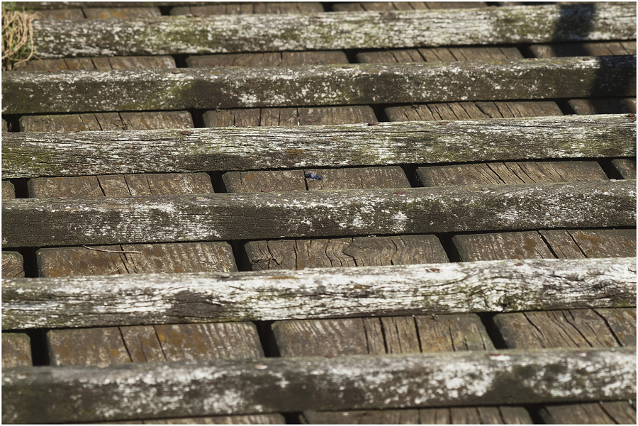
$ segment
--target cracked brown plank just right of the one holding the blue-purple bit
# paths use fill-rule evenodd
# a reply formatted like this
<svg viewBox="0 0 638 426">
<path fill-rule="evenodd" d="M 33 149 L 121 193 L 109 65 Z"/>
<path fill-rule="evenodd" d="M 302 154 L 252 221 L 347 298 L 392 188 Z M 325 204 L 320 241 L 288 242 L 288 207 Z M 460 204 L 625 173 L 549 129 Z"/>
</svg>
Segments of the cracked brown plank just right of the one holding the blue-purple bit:
<svg viewBox="0 0 638 426">
<path fill-rule="evenodd" d="M 419 167 L 417 176 L 423 186 L 608 180 L 597 162 L 505 162 L 430 166 Z"/>
</svg>

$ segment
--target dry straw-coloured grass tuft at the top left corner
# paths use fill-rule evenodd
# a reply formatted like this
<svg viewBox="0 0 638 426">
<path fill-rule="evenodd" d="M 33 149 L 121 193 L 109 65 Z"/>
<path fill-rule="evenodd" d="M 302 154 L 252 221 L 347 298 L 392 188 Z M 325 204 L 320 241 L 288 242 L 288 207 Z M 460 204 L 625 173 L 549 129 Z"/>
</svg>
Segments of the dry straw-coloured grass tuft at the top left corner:
<svg viewBox="0 0 638 426">
<path fill-rule="evenodd" d="M 33 57 L 33 21 L 38 13 L 2 4 L 2 69 L 13 69 Z"/>
</svg>

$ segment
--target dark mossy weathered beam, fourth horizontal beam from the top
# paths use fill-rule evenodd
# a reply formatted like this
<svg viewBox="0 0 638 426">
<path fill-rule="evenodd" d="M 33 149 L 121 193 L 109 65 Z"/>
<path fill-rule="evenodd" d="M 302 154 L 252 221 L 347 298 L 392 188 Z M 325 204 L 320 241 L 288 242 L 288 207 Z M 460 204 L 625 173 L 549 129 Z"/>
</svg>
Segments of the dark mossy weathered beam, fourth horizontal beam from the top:
<svg viewBox="0 0 638 426">
<path fill-rule="evenodd" d="M 635 205 L 635 180 L 20 198 L 2 203 L 2 246 L 605 228 L 635 226 Z"/>
</svg>

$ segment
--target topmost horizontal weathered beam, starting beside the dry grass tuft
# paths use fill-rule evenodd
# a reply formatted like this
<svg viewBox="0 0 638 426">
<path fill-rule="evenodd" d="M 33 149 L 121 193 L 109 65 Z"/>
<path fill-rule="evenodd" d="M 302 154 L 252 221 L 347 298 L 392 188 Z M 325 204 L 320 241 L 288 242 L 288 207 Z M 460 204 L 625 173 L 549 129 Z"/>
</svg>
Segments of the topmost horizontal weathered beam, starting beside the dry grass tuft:
<svg viewBox="0 0 638 426">
<path fill-rule="evenodd" d="M 636 5 L 41 20 L 33 34 L 41 58 L 631 40 Z"/>
</svg>

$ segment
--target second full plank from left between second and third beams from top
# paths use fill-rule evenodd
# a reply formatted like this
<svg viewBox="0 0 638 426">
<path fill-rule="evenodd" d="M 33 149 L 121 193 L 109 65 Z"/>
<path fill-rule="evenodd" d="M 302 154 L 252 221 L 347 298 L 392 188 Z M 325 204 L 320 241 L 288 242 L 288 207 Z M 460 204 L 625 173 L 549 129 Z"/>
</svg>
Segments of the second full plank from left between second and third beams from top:
<svg viewBox="0 0 638 426">
<path fill-rule="evenodd" d="M 369 106 L 324 106 L 319 108 L 248 108 L 203 113 L 206 127 L 254 127 L 376 123 Z"/>
</svg>

